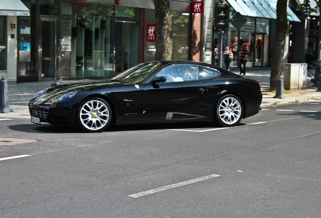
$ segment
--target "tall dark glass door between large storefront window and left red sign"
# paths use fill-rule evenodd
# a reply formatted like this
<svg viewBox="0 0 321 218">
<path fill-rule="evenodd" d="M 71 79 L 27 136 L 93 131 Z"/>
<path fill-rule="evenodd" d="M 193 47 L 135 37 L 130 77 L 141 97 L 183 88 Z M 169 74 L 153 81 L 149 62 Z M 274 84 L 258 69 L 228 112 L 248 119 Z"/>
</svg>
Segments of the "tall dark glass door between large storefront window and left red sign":
<svg viewBox="0 0 321 218">
<path fill-rule="evenodd" d="M 115 35 L 115 75 L 117 75 L 139 64 L 139 24 L 116 22 Z"/>
</svg>

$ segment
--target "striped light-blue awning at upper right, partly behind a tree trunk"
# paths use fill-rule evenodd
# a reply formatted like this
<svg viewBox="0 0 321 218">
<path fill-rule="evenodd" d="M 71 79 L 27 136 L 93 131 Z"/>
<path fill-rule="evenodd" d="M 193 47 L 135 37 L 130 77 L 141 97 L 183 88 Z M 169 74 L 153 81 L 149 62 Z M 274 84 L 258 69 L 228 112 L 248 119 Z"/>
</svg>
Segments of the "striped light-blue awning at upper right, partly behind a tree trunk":
<svg viewBox="0 0 321 218">
<path fill-rule="evenodd" d="M 277 19 L 278 0 L 227 0 L 235 12 L 243 16 Z M 300 19 L 287 6 L 289 21 L 300 22 Z"/>
</svg>

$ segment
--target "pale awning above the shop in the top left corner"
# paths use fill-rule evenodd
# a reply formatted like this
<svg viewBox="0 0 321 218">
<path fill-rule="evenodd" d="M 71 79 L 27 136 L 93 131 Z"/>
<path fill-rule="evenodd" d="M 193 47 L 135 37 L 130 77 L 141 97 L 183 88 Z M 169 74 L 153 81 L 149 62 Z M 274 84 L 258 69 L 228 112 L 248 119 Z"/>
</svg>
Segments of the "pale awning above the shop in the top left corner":
<svg viewBox="0 0 321 218">
<path fill-rule="evenodd" d="M 29 9 L 20 0 L 1 0 L 0 15 L 30 16 Z"/>
</svg>

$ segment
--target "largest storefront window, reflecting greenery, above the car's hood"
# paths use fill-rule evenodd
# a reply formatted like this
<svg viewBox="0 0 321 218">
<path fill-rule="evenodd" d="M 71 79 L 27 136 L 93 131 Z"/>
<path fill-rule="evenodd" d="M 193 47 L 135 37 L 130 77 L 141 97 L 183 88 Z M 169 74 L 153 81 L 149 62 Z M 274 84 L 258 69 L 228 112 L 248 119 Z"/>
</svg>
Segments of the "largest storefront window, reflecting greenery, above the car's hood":
<svg viewBox="0 0 321 218">
<path fill-rule="evenodd" d="M 73 3 L 72 77 L 113 75 L 114 6 Z"/>
</svg>

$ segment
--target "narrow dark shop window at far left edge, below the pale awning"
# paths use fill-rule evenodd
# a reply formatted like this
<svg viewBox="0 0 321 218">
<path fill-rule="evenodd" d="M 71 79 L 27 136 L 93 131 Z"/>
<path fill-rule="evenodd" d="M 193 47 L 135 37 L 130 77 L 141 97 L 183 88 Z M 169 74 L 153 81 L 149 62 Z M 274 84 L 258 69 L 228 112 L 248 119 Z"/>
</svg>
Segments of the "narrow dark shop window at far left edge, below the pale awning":
<svg viewBox="0 0 321 218">
<path fill-rule="evenodd" d="M 7 17 L 0 16 L 0 70 L 7 70 Z"/>
</svg>

